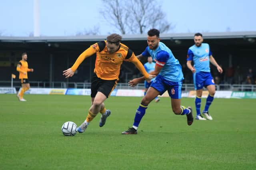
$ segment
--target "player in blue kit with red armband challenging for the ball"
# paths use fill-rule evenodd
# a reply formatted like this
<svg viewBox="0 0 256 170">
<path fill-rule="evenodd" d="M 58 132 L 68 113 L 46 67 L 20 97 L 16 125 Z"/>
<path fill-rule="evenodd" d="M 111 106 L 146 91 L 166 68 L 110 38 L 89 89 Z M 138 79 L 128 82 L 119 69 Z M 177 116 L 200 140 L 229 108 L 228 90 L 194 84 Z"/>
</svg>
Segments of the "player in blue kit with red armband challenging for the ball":
<svg viewBox="0 0 256 170">
<path fill-rule="evenodd" d="M 156 75 L 156 79 L 152 82 L 146 95 L 143 97 L 138 107 L 132 128 L 122 132 L 122 134 L 137 134 L 137 129 L 142 117 L 146 113 L 149 103 L 158 95 L 162 95 L 166 90 L 171 98 L 172 111 L 175 115 L 186 115 L 188 125 L 193 123 L 193 115 L 191 107 L 180 105 L 181 87 L 183 73 L 179 61 L 174 57 L 172 51 L 159 38 L 160 32 L 156 29 L 148 31 L 148 47 L 137 57 L 151 56 L 156 61 L 154 71 L 151 75 Z M 143 77 L 129 81 L 129 85 L 134 87 L 145 79 Z"/>
</svg>

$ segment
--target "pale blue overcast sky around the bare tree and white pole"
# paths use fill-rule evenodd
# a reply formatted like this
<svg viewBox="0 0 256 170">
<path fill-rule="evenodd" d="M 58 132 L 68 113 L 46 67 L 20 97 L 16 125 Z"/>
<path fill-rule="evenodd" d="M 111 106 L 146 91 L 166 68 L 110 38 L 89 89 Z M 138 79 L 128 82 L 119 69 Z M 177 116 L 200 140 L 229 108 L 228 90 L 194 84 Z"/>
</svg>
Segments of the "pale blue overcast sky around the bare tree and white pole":
<svg viewBox="0 0 256 170">
<path fill-rule="evenodd" d="M 256 31 L 256 0 L 158 0 L 171 33 Z M 40 35 L 74 36 L 99 25 L 100 35 L 120 33 L 102 24 L 101 0 L 39 0 Z M 0 0 L 0 35 L 34 32 L 34 0 Z"/>
</svg>

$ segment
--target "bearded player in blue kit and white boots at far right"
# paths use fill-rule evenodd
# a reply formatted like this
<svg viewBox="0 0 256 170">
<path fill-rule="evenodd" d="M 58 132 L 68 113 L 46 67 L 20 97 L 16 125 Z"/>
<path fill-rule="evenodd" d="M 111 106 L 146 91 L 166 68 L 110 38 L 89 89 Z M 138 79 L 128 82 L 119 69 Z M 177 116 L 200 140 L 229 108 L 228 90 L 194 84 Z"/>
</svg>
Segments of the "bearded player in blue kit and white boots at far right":
<svg viewBox="0 0 256 170">
<path fill-rule="evenodd" d="M 214 57 L 212 56 L 212 52 L 210 51 L 210 46 L 208 43 L 203 42 L 203 36 L 200 33 L 196 33 L 194 36 L 195 44 L 188 49 L 187 55 L 187 66 L 193 73 L 193 81 L 194 87 L 196 90 L 196 119 L 197 120 L 212 120 L 208 109 L 212 104 L 215 94 L 215 84 L 214 79 L 210 73 L 210 62 L 217 67 L 218 71 L 222 73 L 222 68 L 218 65 L 215 61 Z M 194 62 L 194 67 L 192 66 L 191 62 Z M 209 95 L 206 99 L 206 104 L 204 107 L 203 114 L 205 115 L 206 119 L 202 117 L 200 113 L 201 107 L 201 97 L 203 87 L 206 87 Z"/>
</svg>

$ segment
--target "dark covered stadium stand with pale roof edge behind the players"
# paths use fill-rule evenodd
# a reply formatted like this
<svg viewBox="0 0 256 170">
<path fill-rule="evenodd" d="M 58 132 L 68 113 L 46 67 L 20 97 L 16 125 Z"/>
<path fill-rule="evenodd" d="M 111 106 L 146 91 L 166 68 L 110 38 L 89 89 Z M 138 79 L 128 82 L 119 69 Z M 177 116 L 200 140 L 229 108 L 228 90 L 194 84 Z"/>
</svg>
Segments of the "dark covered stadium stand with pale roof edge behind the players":
<svg viewBox="0 0 256 170">
<path fill-rule="evenodd" d="M 224 69 L 218 75 L 212 69 L 217 89 L 239 89 L 256 91 L 255 82 L 246 83 L 248 70 L 256 71 L 256 32 L 218 32 L 202 33 L 204 42 L 211 45 L 211 51 Z M 193 45 L 194 33 L 161 34 L 164 42 L 181 65 L 186 63 L 187 49 Z M 10 76 L 16 74 L 16 65 L 23 52 L 28 53 L 30 67 L 34 73 L 29 75 L 32 87 L 76 87 L 88 88 L 94 69 L 95 56 L 87 58 L 70 79 L 62 76 L 62 71 L 72 65 L 78 55 L 95 42 L 104 40 L 106 36 L 70 36 L 70 37 L 0 37 L 0 87 L 10 86 Z M 123 41 L 132 48 L 136 55 L 146 47 L 146 35 L 123 35 Z M 142 63 L 146 62 L 142 60 Z M 230 72 L 231 71 L 231 72 Z M 190 89 L 192 74 L 183 70 L 185 74 L 184 89 Z M 231 73 L 231 74 L 230 74 Z M 122 79 L 117 88 L 129 88 L 126 82 L 132 77 L 140 76 L 133 65 L 124 62 L 122 65 Z M 231 75 L 231 77 L 230 77 Z M 255 72 L 253 72 L 255 80 Z M 14 87 L 19 87 L 14 81 Z M 140 89 L 140 86 L 137 88 Z M 143 87 L 142 87 L 143 88 Z M 192 88 L 192 87 L 191 87 Z"/>
</svg>

